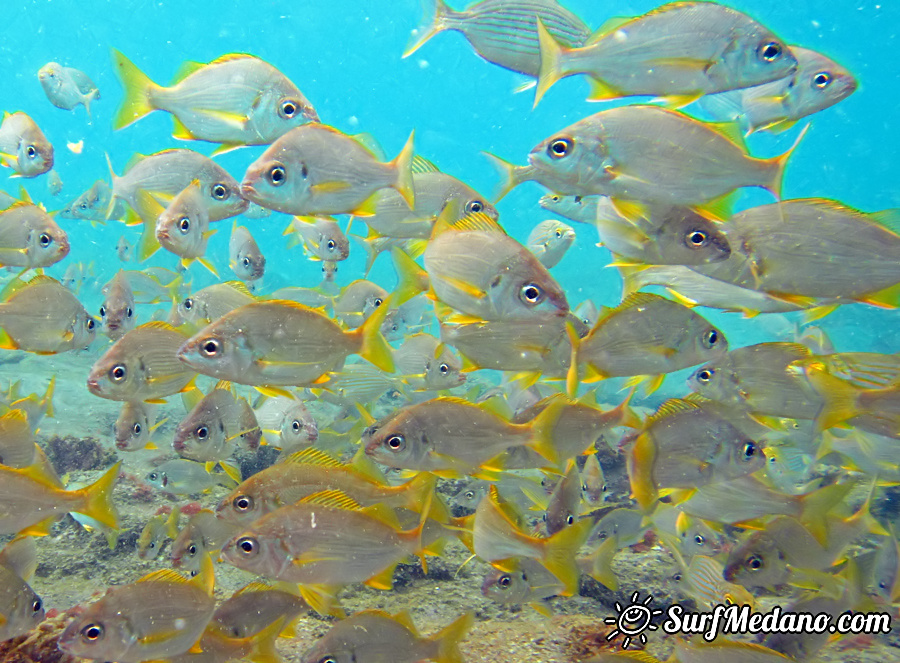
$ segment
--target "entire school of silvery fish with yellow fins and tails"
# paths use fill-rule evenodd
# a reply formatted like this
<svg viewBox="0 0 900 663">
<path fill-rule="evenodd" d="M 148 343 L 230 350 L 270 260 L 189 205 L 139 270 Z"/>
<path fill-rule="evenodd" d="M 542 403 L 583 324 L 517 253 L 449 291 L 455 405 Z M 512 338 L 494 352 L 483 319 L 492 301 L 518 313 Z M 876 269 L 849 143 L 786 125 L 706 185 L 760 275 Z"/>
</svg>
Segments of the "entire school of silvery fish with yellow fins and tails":
<svg viewBox="0 0 900 663">
<path fill-rule="evenodd" d="M 120 408 L 102 440 L 119 461 L 74 487 L 38 435 L 54 416 L 54 358 L 45 394 L 0 393 L 0 640 L 45 616 L 29 581 L 54 523 L 73 513 L 115 542 L 113 488 L 146 450 L 166 453 L 143 482 L 179 502 L 200 495 L 202 508 L 148 515 L 133 554 L 159 570 L 73 612 L 68 654 L 271 663 L 279 636 L 316 611 L 340 619 L 306 663 L 459 663 L 471 612 L 423 636 L 408 614 L 341 606 L 346 586 L 389 591 L 398 565 L 427 573 L 450 548 L 491 565 L 486 597 L 543 614 L 583 576 L 619 590 L 614 558 L 648 544 L 701 609 L 787 591 L 798 609 L 896 612 L 900 544 L 871 507 L 900 481 L 900 357 L 836 351 L 811 323 L 841 306 L 900 306 L 900 211 L 782 186 L 808 123 L 828 121 L 817 114 L 856 90 L 854 76 L 713 2 L 624 18 L 598 6 L 584 20 L 556 0 L 429 11 L 404 57 L 456 48 L 436 35 L 459 31 L 530 79 L 535 106 L 571 76 L 590 100 L 620 104 L 547 126 L 510 161 L 488 155 L 501 179 L 489 198 L 418 154 L 415 127 L 390 158 L 250 54 L 172 61 L 165 86 L 112 49 L 114 114 L 116 93 L 101 97 L 87 73 L 40 69 L 60 109 L 122 131 L 161 111 L 189 142 L 158 136 L 160 151 L 110 162 L 109 179 L 58 213 L 17 180 L 0 193 L 2 352 L 86 352 L 90 398 Z M 57 195 L 53 128 L 6 110 L 0 164 Z M 751 153 L 753 134 L 786 131 L 781 155 Z M 244 146 L 264 150 L 245 172 L 217 163 Z M 546 190 L 535 208 L 560 218 L 520 241 L 497 204 L 528 181 Z M 746 187 L 773 200 L 736 210 Z M 64 262 L 64 228 L 85 222 L 124 224 L 111 278 Z M 265 224 L 321 263 L 321 283 L 267 284 L 278 264 L 254 238 Z M 227 255 L 207 248 L 216 232 L 230 232 Z M 598 264 L 624 284 L 609 307 L 573 300 L 551 272 L 593 233 Z M 178 269 L 155 265 L 159 251 Z M 366 271 L 341 286 L 351 251 Z M 395 283 L 367 279 L 381 254 Z M 195 288 L 199 273 L 213 285 Z M 704 307 L 805 317 L 792 339 L 735 347 Z M 686 383 L 666 381 L 684 370 Z M 607 380 L 621 390 L 600 395 Z M 654 397 L 664 381 L 681 396 Z M 258 460 L 266 449 L 274 463 Z M 216 593 L 224 565 L 246 572 L 230 597 Z M 826 642 L 678 641 L 670 660 L 811 660 Z"/>
</svg>

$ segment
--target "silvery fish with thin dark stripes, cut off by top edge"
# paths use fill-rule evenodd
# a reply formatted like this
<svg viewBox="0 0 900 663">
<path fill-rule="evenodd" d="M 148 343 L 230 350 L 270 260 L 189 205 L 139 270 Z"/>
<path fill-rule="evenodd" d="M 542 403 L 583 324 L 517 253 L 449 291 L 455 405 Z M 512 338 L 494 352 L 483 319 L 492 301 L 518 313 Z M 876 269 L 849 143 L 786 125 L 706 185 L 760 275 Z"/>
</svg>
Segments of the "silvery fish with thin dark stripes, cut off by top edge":
<svg viewBox="0 0 900 663">
<path fill-rule="evenodd" d="M 488 62 L 537 78 L 541 51 L 538 20 L 560 43 L 581 46 L 591 31 L 578 16 L 556 0 L 482 0 L 455 11 L 443 0 L 431 0 L 415 41 L 403 52 L 409 57 L 434 35 L 457 30 Z"/>
</svg>

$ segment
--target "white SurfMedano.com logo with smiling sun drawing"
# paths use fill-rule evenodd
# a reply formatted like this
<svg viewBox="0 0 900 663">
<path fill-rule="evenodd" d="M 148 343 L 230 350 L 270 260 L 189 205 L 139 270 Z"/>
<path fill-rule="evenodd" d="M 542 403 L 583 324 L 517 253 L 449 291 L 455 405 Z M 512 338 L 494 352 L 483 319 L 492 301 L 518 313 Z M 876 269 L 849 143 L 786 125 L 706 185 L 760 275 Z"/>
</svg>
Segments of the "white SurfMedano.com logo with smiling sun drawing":
<svg viewBox="0 0 900 663">
<path fill-rule="evenodd" d="M 628 649 L 632 642 L 647 643 L 647 631 L 660 628 L 653 623 L 654 617 L 663 614 L 660 609 L 652 609 L 652 595 L 640 600 L 640 592 L 631 595 L 631 603 L 623 606 L 616 602 L 615 617 L 607 617 L 604 623 L 615 626 L 606 636 L 608 641 L 620 635 L 625 636 L 622 648 Z M 662 630 L 669 635 L 702 634 L 703 639 L 712 642 L 719 635 L 770 634 L 770 633 L 833 633 L 840 635 L 860 635 L 863 633 L 889 633 L 891 616 L 886 612 L 844 612 L 839 615 L 828 613 L 788 612 L 775 606 L 768 612 L 754 612 L 749 605 L 717 605 L 708 612 L 688 612 L 678 603 L 665 611 L 666 620 Z"/>
</svg>

